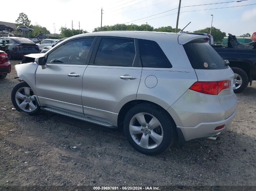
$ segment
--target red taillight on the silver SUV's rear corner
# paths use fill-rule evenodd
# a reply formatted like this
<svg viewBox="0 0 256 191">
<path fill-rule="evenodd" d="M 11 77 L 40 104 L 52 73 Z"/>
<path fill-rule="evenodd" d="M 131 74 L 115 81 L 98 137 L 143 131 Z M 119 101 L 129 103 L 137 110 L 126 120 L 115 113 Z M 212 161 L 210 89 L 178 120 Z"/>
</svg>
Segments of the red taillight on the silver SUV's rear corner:
<svg viewBox="0 0 256 191">
<path fill-rule="evenodd" d="M 229 88 L 229 80 L 197 81 L 189 89 L 203 94 L 218 95 L 221 90 L 226 88 Z"/>
</svg>

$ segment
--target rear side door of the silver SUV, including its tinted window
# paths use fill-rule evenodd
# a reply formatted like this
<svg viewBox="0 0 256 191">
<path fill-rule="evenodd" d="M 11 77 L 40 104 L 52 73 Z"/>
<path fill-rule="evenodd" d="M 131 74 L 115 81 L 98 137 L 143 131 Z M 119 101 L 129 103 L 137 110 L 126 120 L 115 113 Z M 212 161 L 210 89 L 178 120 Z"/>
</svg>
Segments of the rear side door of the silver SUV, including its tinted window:
<svg viewBox="0 0 256 191">
<path fill-rule="evenodd" d="M 116 126 L 121 107 L 136 100 L 141 70 L 137 39 L 99 37 L 83 76 L 84 114 Z"/>
</svg>

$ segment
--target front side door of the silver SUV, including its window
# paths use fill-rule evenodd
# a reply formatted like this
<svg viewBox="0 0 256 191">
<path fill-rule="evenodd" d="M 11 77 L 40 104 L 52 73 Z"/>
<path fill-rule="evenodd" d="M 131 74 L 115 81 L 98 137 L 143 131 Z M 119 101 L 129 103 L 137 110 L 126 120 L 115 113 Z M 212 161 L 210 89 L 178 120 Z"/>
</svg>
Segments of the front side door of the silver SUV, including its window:
<svg viewBox="0 0 256 191">
<path fill-rule="evenodd" d="M 35 73 L 36 94 L 42 107 L 83 115 L 82 78 L 94 40 L 73 39 L 48 53 L 47 68 L 38 66 Z"/>
</svg>

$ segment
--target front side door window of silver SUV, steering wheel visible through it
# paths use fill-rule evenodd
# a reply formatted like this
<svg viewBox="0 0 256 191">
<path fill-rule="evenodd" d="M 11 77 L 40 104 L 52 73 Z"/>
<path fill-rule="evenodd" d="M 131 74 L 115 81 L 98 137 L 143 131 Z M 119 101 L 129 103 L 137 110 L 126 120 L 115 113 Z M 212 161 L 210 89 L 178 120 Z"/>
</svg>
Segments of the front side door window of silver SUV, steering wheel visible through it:
<svg viewBox="0 0 256 191">
<path fill-rule="evenodd" d="M 94 38 L 83 38 L 69 41 L 49 53 L 50 63 L 85 64 Z"/>
</svg>

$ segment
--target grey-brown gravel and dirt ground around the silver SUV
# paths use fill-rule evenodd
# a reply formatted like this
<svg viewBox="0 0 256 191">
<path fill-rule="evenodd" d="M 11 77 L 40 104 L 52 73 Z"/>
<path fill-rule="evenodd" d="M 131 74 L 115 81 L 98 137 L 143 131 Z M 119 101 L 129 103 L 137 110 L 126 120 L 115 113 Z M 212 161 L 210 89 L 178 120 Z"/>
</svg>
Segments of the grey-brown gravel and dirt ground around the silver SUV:
<svg viewBox="0 0 256 191">
<path fill-rule="evenodd" d="M 20 60 L 10 62 L 11 74 L 0 79 L 0 186 L 256 185 L 255 81 L 237 94 L 238 113 L 216 142 L 193 140 L 147 156 L 131 148 L 121 131 L 12 109 Z"/>
</svg>

